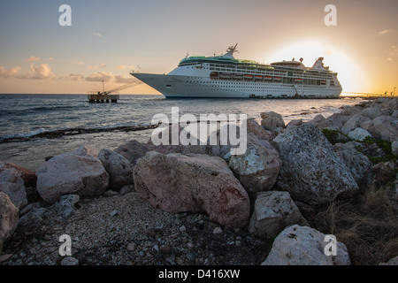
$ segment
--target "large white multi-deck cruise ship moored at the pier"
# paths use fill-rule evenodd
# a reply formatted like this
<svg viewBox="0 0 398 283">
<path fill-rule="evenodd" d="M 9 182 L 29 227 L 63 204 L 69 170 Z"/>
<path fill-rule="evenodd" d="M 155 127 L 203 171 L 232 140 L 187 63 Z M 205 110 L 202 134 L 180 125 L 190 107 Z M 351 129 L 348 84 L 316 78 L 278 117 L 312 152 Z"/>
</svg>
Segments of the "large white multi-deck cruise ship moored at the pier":
<svg viewBox="0 0 398 283">
<path fill-rule="evenodd" d="M 312 67 L 295 61 L 270 65 L 233 57 L 237 44 L 221 56 L 185 57 L 168 74 L 130 73 L 166 98 L 338 98 L 337 73 L 319 57 Z"/>
</svg>

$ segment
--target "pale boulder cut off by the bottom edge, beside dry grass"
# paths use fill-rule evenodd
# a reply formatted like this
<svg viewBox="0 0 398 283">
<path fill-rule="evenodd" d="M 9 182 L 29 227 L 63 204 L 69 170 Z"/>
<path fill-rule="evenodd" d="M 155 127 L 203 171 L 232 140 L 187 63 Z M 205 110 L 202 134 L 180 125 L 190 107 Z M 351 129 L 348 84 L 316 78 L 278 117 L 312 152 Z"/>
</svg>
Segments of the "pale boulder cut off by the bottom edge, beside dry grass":
<svg viewBox="0 0 398 283">
<path fill-rule="evenodd" d="M 262 265 L 351 264 L 346 245 L 336 241 L 336 256 L 333 256 L 327 247 L 330 243 L 324 233 L 308 226 L 289 226 L 273 241 L 271 252 Z M 328 252 L 325 253 L 325 249 Z"/>
</svg>

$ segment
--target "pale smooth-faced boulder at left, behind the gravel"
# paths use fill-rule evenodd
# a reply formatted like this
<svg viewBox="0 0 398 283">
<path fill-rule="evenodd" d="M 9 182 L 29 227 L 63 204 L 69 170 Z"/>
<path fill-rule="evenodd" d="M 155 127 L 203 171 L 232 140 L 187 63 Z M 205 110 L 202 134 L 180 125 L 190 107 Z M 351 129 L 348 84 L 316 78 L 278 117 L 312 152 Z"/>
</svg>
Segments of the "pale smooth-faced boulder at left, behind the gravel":
<svg viewBox="0 0 398 283">
<path fill-rule="evenodd" d="M 85 146 L 43 163 L 36 172 L 37 191 L 48 203 L 62 195 L 97 196 L 108 187 L 109 174 L 101 161 Z"/>
</svg>

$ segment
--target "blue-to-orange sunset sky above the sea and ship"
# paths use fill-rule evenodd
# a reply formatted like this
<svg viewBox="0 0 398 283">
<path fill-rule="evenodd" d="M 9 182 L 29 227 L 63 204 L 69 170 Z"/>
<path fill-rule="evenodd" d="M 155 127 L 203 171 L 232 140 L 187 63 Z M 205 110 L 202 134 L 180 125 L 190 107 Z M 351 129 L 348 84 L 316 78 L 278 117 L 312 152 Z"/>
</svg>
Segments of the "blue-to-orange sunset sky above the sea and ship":
<svg viewBox="0 0 398 283">
<path fill-rule="evenodd" d="M 72 26 L 61 26 L 71 7 Z M 326 26 L 327 4 L 336 26 Z M 169 73 L 187 56 L 270 64 L 302 57 L 339 73 L 343 91 L 398 87 L 397 0 L 0 1 L 0 93 L 86 94 Z M 327 18 L 329 19 L 329 18 Z M 120 94 L 158 94 L 139 85 Z M 396 90 L 398 95 L 398 90 Z"/>
</svg>

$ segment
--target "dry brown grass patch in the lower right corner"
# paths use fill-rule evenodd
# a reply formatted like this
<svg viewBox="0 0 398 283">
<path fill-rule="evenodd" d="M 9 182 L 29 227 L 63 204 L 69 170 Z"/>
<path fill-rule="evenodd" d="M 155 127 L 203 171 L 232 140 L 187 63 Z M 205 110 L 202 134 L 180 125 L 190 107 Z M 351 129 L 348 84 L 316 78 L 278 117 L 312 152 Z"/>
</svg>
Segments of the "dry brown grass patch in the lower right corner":
<svg viewBox="0 0 398 283">
<path fill-rule="evenodd" d="M 330 203 L 310 225 L 345 243 L 352 264 L 385 263 L 398 256 L 398 211 L 389 196 L 389 187 L 372 185 L 356 199 Z"/>
</svg>

